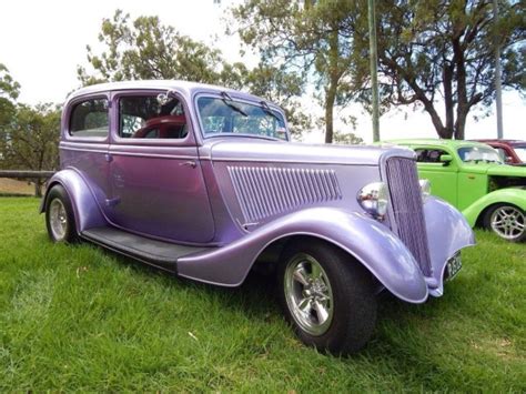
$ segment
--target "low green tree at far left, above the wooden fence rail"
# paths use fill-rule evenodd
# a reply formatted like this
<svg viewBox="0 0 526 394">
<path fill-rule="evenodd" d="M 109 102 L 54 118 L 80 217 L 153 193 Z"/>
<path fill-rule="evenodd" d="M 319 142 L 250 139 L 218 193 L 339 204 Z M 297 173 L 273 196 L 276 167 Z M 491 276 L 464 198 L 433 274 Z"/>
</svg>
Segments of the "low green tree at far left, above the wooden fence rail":
<svg viewBox="0 0 526 394">
<path fill-rule="evenodd" d="M 19 104 L 9 127 L 0 130 L 0 166 L 22 170 L 55 170 L 59 166 L 60 108 Z M 41 196 L 42 180 L 34 180 Z"/>
</svg>

